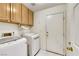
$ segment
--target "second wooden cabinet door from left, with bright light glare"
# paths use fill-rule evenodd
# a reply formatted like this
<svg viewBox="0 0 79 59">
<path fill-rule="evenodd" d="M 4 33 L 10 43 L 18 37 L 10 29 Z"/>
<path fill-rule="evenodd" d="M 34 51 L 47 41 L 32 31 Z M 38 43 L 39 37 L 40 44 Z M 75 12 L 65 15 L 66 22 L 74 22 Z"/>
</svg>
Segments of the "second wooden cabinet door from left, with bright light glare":
<svg viewBox="0 0 79 59">
<path fill-rule="evenodd" d="M 11 4 L 11 22 L 21 23 L 21 4 Z"/>
</svg>

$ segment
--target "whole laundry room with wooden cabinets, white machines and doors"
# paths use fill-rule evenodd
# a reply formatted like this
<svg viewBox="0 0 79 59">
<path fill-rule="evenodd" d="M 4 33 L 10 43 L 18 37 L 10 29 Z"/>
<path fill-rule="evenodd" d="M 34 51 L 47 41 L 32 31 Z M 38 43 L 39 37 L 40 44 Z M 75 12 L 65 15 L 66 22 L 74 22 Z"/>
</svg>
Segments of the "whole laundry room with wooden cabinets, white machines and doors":
<svg viewBox="0 0 79 59">
<path fill-rule="evenodd" d="M 0 56 L 79 56 L 78 3 L 0 3 Z"/>
</svg>

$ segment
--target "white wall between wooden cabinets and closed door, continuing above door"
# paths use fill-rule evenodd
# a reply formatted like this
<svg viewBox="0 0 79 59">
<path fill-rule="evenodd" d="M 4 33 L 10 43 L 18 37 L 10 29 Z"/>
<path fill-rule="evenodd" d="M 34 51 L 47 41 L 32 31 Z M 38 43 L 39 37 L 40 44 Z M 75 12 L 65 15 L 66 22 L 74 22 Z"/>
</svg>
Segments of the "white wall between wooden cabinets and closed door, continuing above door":
<svg viewBox="0 0 79 59">
<path fill-rule="evenodd" d="M 34 26 L 32 28 L 32 31 L 40 34 L 42 49 L 46 50 L 46 32 L 45 32 L 46 15 L 64 11 L 65 11 L 65 5 L 59 5 L 34 13 Z"/>
</svg>

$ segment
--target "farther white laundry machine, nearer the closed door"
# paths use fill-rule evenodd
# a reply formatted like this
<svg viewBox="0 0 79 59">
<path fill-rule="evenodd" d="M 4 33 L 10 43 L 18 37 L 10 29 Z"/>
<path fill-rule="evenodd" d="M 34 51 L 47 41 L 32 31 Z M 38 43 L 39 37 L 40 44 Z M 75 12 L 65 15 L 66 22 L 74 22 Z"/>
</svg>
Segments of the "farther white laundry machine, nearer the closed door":
<svg viewBox="0 0 79 59">
<path fill-rule="evenodd" d="M 26 33 L 24 36 L 28 42 L 28 55 L 35 56 L 40 50 L 40 35 L 36 33 Z"/>
</svg>

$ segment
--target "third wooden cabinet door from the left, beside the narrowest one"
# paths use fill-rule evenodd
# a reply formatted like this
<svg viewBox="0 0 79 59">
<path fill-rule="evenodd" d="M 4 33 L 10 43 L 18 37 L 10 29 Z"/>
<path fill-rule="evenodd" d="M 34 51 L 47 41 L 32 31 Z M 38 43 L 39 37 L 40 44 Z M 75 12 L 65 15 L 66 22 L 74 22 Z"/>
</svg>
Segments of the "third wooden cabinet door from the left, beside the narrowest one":
<svg viewBox="0 0 79 59">
<path fill-rule="evenodd" d="M 29 10 L 25 5 L 22 5 L 22 24 L 28 24 Z"/>
</svg>

